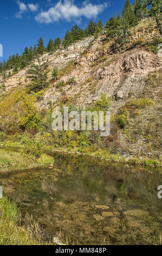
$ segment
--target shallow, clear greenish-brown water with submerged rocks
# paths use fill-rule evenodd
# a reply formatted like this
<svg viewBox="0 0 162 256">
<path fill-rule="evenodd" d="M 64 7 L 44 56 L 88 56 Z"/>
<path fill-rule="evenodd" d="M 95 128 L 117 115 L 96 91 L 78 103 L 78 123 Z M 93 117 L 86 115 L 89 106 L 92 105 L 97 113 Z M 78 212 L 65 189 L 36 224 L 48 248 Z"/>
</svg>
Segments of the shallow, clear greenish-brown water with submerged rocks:
<svg viewBox="0 0 162 256">
<path fill-rule="evenodd" d="M 62 230 L 80 245 L 160 244 L 162 185 L 156 169 L 52 154 L 54 168 L 1 173 L 4 194 L 46 233 Z"/>
</svg>

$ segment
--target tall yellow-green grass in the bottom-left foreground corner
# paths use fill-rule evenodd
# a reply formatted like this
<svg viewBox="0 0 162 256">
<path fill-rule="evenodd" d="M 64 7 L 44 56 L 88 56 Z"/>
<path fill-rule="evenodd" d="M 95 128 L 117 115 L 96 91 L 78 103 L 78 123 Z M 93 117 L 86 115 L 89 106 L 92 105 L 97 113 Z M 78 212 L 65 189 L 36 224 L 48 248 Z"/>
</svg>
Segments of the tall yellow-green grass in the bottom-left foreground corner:
<svg viewBox="0 0 162 256">
<path fill-rule="evenodd" d="M 48 245 L 40 225 L 29 215 L 22 218 L 7 197 L 0 199 L 0 245 Z"/>
</svg>

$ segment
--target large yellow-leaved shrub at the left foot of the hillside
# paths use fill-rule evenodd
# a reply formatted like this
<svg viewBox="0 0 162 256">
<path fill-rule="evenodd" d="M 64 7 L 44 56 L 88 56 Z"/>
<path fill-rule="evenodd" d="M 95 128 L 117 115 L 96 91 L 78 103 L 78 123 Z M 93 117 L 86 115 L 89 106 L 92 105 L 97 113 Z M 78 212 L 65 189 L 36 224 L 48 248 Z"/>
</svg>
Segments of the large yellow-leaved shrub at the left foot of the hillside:
<svg viewBox="0 0 162 256">
<path fill-rule="evenodd" d="M 25 89 L 16 89 L 4 97 L 0 103 L 1 127 L 4 131 L 26 130 L 29 127 L 38 130 L 40 112 L 35 106 L 36 98 Z"/>
</svg>

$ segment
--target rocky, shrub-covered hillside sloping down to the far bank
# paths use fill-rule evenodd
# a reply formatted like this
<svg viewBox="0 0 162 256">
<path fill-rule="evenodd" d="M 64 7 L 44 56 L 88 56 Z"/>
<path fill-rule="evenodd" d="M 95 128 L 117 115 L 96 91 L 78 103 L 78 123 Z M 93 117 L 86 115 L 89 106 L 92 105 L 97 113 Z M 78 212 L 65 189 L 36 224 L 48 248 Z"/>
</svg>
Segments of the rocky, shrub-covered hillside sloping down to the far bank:
<svg viewBox="0 0 162 256">
<path fill-rule="evenodd" d="M 29 66 L 9 78 L 0 76 L 1 143 L 22 144 L 26 136 L 53 150 L 159 165 L 162 58 L 155 40 L 160 34 L 149 24 L 145 20 L 133 27 L 129 41 L 115 50 L 103 32 L 97 39 L 92 36 L 44 54 L 41 61 L 48 60 L 49 85 L 40 92 L 25 91 L 30 83 Z M 57 81 L 51 75 L 55 67 L 59 70 Z M 55 109 L 63 105 L 94 109 L 101 100 L 109 101 L 111 111 L 111 135 L 107 138 L 94 131 L 51 131 Z M 36 125 L 27 125 L 28 107 L 31 115 L 38 116 Z"/>
</svg>

